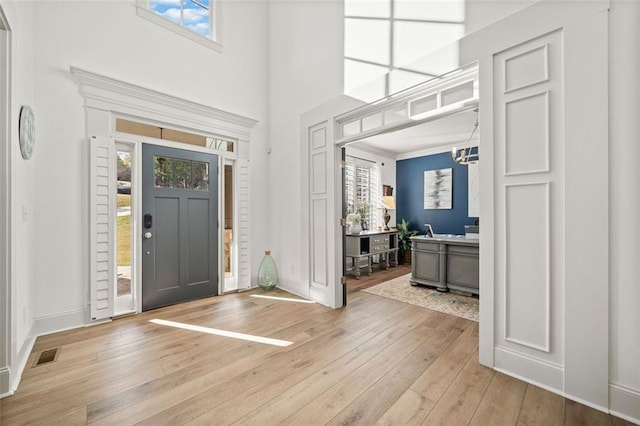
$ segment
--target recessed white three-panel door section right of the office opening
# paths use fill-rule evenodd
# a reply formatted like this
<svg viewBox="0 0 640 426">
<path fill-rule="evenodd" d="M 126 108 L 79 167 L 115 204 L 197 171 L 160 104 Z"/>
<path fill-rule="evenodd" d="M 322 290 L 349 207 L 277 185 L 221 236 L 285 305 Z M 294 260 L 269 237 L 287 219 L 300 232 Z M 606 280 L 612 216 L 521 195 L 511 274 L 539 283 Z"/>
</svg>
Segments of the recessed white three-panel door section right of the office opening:
<svg viewBox="0 0 640 426">
<path fill-rule="evenodd" d="M 527 371 L 554 387 L 563 381 L 562 49 L 556 31 L 493 58 L 496 365 L 514 352 L 539 360 Z"/>
</svg>

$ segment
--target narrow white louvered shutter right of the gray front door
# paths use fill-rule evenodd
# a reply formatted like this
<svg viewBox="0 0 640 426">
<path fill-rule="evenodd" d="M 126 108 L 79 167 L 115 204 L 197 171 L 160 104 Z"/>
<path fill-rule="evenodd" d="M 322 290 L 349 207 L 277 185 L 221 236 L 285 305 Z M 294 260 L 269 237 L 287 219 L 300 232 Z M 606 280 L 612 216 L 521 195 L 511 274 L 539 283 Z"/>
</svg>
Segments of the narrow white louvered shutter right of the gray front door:
<svg viewBox="0 0 640 426">
<path fill-rule="evenodd" d="M 249 160 L 238 159 L 238 289 L 251 288 Z"/>
</svg>

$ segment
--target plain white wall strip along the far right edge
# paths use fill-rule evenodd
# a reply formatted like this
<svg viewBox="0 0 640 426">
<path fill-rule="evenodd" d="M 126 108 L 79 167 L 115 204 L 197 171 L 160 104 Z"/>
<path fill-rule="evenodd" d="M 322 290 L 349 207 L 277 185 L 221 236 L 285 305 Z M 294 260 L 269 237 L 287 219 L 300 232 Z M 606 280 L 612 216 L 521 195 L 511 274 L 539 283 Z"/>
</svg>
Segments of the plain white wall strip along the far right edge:
<svg viewBox="0 0 640 426">
<path fill-rule="evenodd" d="M 614 0 L 609 21 L 610 382 L 635 392 L 640 421 L 640 4 Z M 622 387 L 621 390 L 619 387 Z M 631 401 L 632 402 L 632 401 Z M 623 407 L 612 409 L 621 411 Z"/>
</svg>

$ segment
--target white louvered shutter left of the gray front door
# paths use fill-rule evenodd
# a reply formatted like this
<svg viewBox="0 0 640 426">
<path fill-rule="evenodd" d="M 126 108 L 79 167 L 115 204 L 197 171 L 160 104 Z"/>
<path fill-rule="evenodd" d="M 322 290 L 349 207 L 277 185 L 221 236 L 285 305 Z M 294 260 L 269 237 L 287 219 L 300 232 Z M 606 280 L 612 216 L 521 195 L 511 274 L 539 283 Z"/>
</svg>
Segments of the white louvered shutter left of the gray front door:
<svg viewBox="0 0 640 426">
<path fill-rule="evenodd" d="M 90 140 L 90 293 L 91 319 L 113 315 L 115 146 L 108 138 Z"/>
</svg>

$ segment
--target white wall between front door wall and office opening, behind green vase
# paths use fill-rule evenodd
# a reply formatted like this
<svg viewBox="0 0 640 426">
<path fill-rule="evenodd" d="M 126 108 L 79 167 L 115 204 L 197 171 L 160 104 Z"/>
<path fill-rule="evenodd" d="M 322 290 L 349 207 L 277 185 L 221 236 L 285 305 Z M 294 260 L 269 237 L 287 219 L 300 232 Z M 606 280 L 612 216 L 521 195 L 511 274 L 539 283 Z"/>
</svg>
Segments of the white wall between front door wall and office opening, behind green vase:
<svg viewBox="0 0 640 426">
<path fill-rule="evenodd" d="M 343 18 L 340 1 L 274 1 L 269 6 L 271 154 L 268 246 L 280 286 L 303 296 L 300 114 L 342 93 Z M 252 244 L 255 244 L 252 242 Z"/>
</svg>

